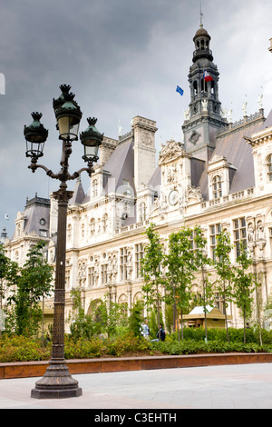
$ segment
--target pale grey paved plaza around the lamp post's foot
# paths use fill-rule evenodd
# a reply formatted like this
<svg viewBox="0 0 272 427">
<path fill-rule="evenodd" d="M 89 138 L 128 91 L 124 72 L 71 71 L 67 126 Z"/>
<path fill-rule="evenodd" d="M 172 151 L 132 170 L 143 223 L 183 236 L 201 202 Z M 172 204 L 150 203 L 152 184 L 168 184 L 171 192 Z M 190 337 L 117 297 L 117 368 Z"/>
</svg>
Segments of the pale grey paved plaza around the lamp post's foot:
<svg viewBox="0 0 272 427">
<path fill-rule="evenodd" d="M 106 409 L 272 409 L 272 363 L 88 373 L 73 378 L 83 395 L 63 400 L 30 398 L 37 378 L 0 380 L 0 408 L 93 409 L 99 416 L 98 410 Z"/>
</svg>

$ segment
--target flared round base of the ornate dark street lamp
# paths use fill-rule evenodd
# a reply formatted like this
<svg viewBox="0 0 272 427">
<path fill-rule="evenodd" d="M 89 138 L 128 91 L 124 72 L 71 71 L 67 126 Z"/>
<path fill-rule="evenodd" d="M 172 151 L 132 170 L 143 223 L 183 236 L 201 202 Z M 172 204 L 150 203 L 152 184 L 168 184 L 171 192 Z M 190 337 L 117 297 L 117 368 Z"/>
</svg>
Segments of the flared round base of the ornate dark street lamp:
<svg viewBox="0 0 272 427">
<path fill-rule="evenodd" d="M 69 373 L 65 362 L 51 362 L 44 377 L 36 382 L 31 391 L 34 399 L 66 399 L 80 397 L 82 394 L 83 390 Z"/>
</svg>

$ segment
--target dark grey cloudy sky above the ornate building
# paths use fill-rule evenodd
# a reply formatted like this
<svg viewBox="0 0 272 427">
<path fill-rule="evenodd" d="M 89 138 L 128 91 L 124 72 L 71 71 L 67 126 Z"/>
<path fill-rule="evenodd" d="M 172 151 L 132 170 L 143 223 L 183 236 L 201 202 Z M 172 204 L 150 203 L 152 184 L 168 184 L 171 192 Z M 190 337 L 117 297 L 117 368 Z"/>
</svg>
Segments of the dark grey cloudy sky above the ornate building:
<svg viewBox="0 0 272 427">
<path fill-rule="evenodd" d="M 245 96 L 253 114 L 263 92 L 267 115 L 272 107 L 271 0 L 202 0 L 202 12 L 219 67 L 222 106 L 232 105 L 233 120 L 239 120 Z M 131 118 L 139 114 L 157 121 L 158 148 L 170 137 L 182 140 L 198 28 L 199 0 L 1 0 L 0 230 L 5 225 L 12 235 L 27 196 L 47 197 L 58 188 L 44 171 L 27 169 L 23 131 L 33 111 L 44 114 L 49 137 L 41 163 L 58 172 L 61 144 L 52 100 L 60 84 L 72 86 L 83 111 L 81 130 L 86 118 L 95 116 L 98 129 L 117 139 L 119 121 L 129 132 Z M 185 90 L 182 97 L 176 84 Z M 72 173 L 83 167 L 83 147 L 73 146 Z M 83 185 L 87 191 L 87 176 Z"/>
</svg>

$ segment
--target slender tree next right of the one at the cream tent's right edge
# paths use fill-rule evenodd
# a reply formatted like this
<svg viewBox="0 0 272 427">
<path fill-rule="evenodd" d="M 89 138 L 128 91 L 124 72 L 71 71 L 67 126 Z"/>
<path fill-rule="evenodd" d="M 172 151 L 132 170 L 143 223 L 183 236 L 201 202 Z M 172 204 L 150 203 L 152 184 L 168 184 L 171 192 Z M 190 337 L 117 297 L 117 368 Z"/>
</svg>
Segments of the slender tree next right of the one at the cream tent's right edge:
<svg viewBox="0 0 272 427">
<path fill-rule="evenodd" d="M 247 245 L 240 242 L 240 253 L 237 258 L 238 267 L 235 269 L 234 300 L 238 309 L 241 311 L 244 323 L 244 343 L 246 343 L 246 320 L 252 312 L 252 302 L 254 292 L 254 274 L 247 270 L 252 265 L 252 260 L 248 258 Z"/>
</svg>

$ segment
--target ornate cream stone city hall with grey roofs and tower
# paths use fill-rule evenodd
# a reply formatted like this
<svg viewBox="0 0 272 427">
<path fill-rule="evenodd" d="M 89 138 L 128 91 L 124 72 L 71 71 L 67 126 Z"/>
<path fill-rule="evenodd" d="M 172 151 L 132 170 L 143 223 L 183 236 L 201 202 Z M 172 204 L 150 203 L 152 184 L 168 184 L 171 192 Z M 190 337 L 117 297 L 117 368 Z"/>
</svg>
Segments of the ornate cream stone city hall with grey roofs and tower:
<svg viewBox="0 0 272 427">
<path fill-rule="evenodd" d="M 135 116 L 129 134 L 118 140 L 104 137 L 88 192 L 80 179 L 75 184 L 67 218 L 67 317 L 74 287 L 82 291 L 86 313 L 105 294 L 129 308 L 142 299 L 144 231 L 151 222 L 166 246 L 170 233 L 199 224 L 210 257 L 220 229 L 227 229 L 234 245 L 232 262 L 240 240 L 245 241 L 262 282 L 263 301 L 271 293 L 272 114 L 265 118 L 260 97 L 256 114 L 248 115 L 244 104 L 243 117 L 232 123 L 231 111 L 219 102 L 219 70 L 202 25 L 193 42 L 184 141 L 161 144 L 156 164 L 156 122 Z M 43 237 L 54 263 L 57 208 L 53 199 L 45 200 L 35 196 L 27 201 L 15 235 L 5 240 L 15 261 L 22 262 L 27 247 Z M 198 291 L 197 279 L 194 286 Z M 219 295 L 218 306 L 222 309 Z M 237 308 L 232 304 L 228 312 L 229 324 L 240 326 Z"/>
</svg>

